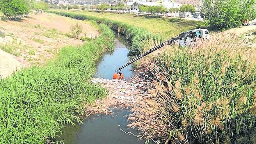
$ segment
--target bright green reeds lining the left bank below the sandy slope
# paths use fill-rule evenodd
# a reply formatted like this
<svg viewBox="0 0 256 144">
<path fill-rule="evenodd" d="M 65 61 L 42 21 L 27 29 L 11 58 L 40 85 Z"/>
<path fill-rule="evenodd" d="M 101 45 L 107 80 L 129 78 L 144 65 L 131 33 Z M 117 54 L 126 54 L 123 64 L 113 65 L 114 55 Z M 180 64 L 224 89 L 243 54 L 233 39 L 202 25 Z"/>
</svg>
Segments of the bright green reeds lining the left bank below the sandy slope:
<svg viewBox="0 0 256 144">
<path fill-rule="evenodd" d="M 32 66 L 0 80 L 0 143 L 37 143 L 61 132 L 83 112 L 84 104 L 105 96 L 88 81 L 95 62 L 114 47 L 114 34 L 100 24 L 101 35 L 80 46 L 67 46 L 42 67 Z"/>
</svg>

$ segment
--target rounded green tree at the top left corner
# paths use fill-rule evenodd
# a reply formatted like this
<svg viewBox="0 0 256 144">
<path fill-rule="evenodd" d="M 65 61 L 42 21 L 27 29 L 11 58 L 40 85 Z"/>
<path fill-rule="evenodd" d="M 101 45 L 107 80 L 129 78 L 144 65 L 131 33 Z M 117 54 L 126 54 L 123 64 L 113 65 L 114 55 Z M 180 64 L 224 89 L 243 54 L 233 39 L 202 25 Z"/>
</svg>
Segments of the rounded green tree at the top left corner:
<svg viewBox="0 0 256 144">
<path fill-rule="evenodd" d="M 26 0 L 1 0 L 1 10 L 7 16 L 19 16 L 30 12 L 31 3 Z"/>
</svg>

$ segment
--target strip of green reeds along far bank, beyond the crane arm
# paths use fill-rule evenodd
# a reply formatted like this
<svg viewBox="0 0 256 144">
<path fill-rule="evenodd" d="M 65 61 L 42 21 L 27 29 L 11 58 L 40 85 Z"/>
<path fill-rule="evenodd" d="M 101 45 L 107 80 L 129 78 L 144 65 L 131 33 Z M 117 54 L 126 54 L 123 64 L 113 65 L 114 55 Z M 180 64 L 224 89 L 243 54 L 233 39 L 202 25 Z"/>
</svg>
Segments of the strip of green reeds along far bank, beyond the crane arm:
<svg viewBox="0 0 256 144">
<path fill-rule="evenodd" d="M 80 20 L 94 20 L 97 23 L 106 24 L 112 30 L 117 31 L 118 33 L 123 35 L 131 43 L 130 55 L 140 54 L 141 52 L 150 48 L 152 45 L 155 45 L 163 41 L 163 37 L 159 35 L 154 35 L 146 29 L 138 28 L 136 26 L 125 24 L 123 22 L 78 13 L 68 13 L 64 11 L 48 10 L 47 12 L 63 15 L 66 17 L 72 17 Z"/>
</svg>

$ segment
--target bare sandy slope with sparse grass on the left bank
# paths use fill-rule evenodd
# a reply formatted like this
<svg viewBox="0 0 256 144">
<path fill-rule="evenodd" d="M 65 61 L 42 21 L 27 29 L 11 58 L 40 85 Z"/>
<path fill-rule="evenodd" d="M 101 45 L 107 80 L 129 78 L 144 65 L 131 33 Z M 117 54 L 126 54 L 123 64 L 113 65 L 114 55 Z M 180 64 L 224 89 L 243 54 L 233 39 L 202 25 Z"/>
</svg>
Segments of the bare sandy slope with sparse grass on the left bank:
<svg viewBox="0 0 256 144">
<path fill-rule="evenodd" d="M 83 26 L 81 36 L 84 37 L 85 33 L 88 38 L 99 35 L 97 28 L 90 22 L 52 13 L 34 15 L 20 21 L 0 21 L 0 32 L 5 34 L 4 37 L 0 37 L 2 76 L 6 77 L 16 70 L 16 67 L 42 65 L 66 45 L 82 45 L 84 41 L 65 35 L 76 23 Z"/>
</svg>

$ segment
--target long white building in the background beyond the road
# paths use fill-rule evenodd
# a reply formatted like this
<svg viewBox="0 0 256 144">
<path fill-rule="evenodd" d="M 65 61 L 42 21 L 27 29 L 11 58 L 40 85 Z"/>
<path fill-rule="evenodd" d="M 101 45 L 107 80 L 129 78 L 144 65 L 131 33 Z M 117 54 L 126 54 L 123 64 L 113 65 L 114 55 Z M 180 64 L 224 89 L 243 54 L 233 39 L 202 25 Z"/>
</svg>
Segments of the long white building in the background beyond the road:
<svg viewBox="0 0 256 144">
<path fill-rule="evenodd" d="M 163 5 L 163 7 L 170 9 L 170 8 L 179 8 L 180 6 L 182 6 L 181 3 L 174 3 L 174 1 L 170 1 L 170 0 L 161 0 L 161 1 L 146 1 L 146 0 L 132 0 L 132 1 L 128 1 L 126 4 L 127 5 L 132 5 L 133 3 L 138 3 L 141 5 L 147 5 L 147 6 L 160 6 Z"/>
</svg>

